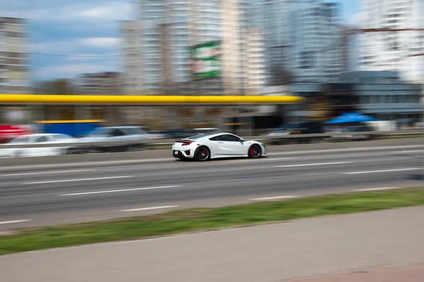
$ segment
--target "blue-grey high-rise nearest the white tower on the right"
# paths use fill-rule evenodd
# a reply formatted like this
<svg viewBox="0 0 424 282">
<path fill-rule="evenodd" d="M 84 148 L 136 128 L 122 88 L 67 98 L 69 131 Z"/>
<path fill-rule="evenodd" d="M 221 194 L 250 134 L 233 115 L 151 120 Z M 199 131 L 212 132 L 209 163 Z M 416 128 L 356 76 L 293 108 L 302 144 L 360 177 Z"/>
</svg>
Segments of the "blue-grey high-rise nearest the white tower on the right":
<svg viewBox="0 0 424 282">
<path fill-rule="evenodd" d="M 290 9 L 290 71 L 294 82 L 331 82 L 343 68 L 340 5 L 308 1 Z"/>
</svg>

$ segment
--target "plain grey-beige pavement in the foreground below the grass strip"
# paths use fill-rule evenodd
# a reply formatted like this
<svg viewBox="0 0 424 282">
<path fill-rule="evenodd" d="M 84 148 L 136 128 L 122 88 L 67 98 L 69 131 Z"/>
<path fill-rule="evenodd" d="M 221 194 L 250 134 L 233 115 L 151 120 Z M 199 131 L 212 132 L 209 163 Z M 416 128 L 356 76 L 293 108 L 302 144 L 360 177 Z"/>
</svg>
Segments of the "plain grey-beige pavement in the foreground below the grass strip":
<svg viewBox="0 0 424 282">
<path fill-rule="evenodd" d="M 411 207 L 6 255 L 1 281 L 282 282 L 365 273 L 424 262 L 423 214 Z M 423 281 L 396 269 L 349 281 Z"/>
</svg>

